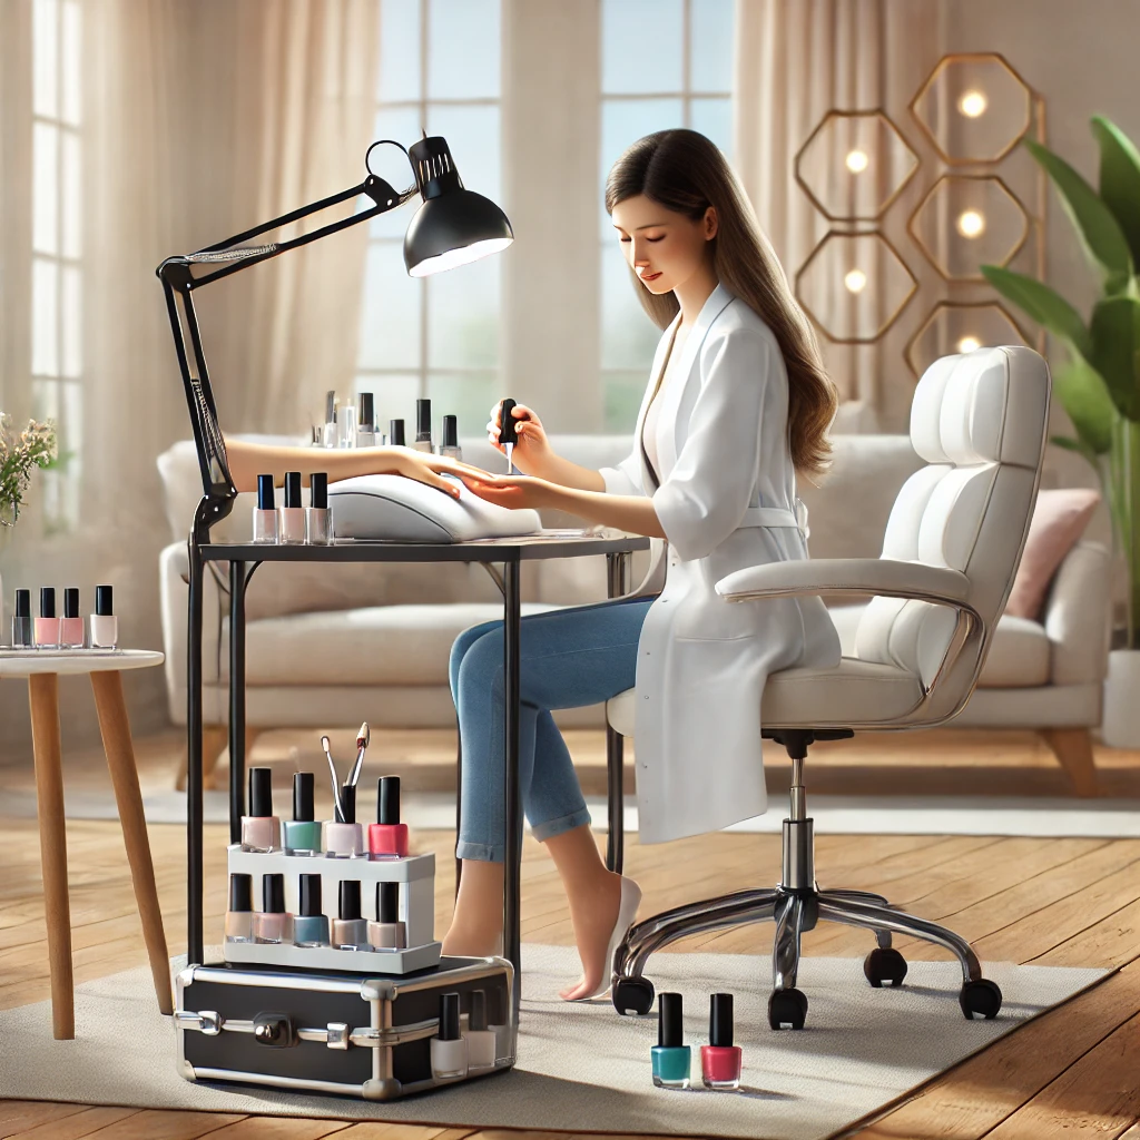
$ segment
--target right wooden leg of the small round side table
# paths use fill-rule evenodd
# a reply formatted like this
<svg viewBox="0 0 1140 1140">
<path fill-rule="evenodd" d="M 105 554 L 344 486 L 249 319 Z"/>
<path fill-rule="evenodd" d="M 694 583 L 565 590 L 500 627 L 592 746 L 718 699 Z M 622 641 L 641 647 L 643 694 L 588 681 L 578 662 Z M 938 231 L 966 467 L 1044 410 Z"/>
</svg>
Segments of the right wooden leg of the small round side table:
<svg viewBox="0 0 1140 1140">
<path fill-rule="evenodd" d="M 173 1013 L 170 954 L 166 951 L 166 934 L 162 928 L 162 910 L 158 906 L 150 840 L 147 837 L 146 817 L 142 814 L 139 773 L 135 764 L 127 703 L 123 700 L 122 674 L 92 673 L 91 687 L 95 690 L 95 707 L 99 714 L 103 750 L 107 757 L 107 767 L 111 769 L 111 782 L 115 788 L 119 822 L 123 828 L 127 862 L 131 868 L 135 901 L 138 903 L 139 918 L 142 920 L 142 938 L 146 940 L 147 955 L 150 959 L 150 974 L 154 976 L 158 1010 L 163 1013 Z"/>
</svg>

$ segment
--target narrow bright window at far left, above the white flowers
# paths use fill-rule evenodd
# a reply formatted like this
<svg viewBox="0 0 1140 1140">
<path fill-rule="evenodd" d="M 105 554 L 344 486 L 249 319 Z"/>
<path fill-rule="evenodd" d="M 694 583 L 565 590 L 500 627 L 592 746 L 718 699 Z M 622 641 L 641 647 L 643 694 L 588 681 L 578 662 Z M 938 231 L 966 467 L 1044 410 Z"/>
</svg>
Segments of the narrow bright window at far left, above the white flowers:
<svg viewBox="0 0 1140 1140">
<path fill-rule="evenodd" d="M 32 15 L 32 390 L 58 425 L 66 465 L 46 472 L 44 523 L 79 519 L 82 463 L 79 0 L 34 0 Z"/>
</svg>

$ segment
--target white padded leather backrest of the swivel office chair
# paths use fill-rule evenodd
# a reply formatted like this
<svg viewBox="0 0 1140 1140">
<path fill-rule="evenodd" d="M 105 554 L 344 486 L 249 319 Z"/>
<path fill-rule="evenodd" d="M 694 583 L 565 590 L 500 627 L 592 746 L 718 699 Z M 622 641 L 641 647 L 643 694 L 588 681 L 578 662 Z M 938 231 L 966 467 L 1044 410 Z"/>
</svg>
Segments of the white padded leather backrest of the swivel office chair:
<svg viewBox="0 0 1140 1140">
<path fill-rule="evenodd" d="M 976 349 L 936 360 L 911 405 L 911 443 L 926 461 L 895 498 L 882 557 L 961 570 L 982 618 L 980 661 L 1005 608 L 1037 497 L 1049 417 L 1049 367 L 1032 349 Z M 943 667 L 955 611 L 877 597 L 855 636 L 856 656 L 918 674 Z M 929 712 L 969 693 L 975 659 L 960 654 L 938 677 Z M 980 667 L 980 662 L 978 662 Z"/>
</svg>

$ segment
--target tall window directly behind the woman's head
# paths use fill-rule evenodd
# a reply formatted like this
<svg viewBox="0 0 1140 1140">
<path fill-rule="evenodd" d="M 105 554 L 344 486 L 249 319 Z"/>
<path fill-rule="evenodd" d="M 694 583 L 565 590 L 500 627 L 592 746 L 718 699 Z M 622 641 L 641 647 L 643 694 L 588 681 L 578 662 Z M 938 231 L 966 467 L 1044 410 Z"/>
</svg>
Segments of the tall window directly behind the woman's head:
<svg viewBox="0 0 1140 1140">
<path fill-rule="evenodd" d="M 605 430 L 628 432 L 660 332 L 645 316 L 605 212 L 605 177 L 644 135 L 687 127 L 732 161 L 733 0 L 603 0 L 598 165 Z"/>
</svg>

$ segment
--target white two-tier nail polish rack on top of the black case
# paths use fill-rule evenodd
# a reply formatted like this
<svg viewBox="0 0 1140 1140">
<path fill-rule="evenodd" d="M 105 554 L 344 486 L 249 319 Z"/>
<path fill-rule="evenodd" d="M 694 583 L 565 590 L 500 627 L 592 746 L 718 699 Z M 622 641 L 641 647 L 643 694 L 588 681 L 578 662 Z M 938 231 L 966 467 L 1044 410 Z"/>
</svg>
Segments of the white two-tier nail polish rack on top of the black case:
<svg viewBox="0 0 1140 1140">
<path fill-rule="evenodd" d="M 229 873 L 253 877 L 253 897 L 262 893 L 261 877 L 285 877 L 285 909 L 298 913 L 300 877 L 320 874 L 321 896 L 335 899 L 343 879 L 360 882 L 365 910 L 376 895 L 376 883 L 399 882 L 400 919 L 405 922 L 405 950 L 340 950 L 336 946 L 296 946 L 293 943 L 226 942 L 227 962 L 300 967 L 314 970 L 348 970 L 353 974 L 404 975 L 440 964 L 442 944 L 435 940 L 435 855 L 405 858 L 369 858 L 367 855 L 332 858 L 321 855 L 287 855 L 285 852 L 247 852 L 230 844 Z M 326 904 L 327 905 L 327 904 Z M 333 904 L 335 905 L 335 903 Z"/>
</svg>

